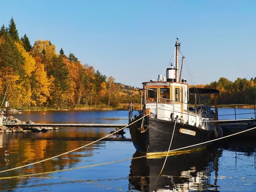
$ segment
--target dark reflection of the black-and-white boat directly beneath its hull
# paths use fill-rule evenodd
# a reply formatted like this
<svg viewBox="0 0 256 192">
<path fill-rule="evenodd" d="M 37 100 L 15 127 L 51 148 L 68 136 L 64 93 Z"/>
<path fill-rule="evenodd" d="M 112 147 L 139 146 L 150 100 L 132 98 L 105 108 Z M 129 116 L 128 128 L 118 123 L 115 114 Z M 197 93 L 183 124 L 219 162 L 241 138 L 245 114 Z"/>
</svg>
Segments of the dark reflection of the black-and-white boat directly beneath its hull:
<svg viewBox="0 0 256 192">
<path fill-rule="evenodd" d="M 219 191 L 217 172 L 221 155 L 221 149 L 211 147 L 194 153 L 169 156 L 159 178 L 165 157 L 132 159 L 129 190 Z M 133 154 L 133 158 L 140 156 L 137 151 Z"/>
</svg>

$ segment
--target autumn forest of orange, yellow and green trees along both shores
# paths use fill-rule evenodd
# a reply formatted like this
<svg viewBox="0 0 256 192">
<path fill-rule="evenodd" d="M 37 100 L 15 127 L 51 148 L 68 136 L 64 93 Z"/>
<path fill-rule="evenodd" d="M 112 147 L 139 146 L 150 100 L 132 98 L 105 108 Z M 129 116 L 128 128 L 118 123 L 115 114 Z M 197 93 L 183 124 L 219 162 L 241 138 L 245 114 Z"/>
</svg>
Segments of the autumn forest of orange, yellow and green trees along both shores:
<svg viewBox="0 0 256 192">
<path fill-rule="evenodd" d="M 218 104 L 256 103 L 256 77 L 222 77 L 218 82 L 196 87 L 218 89 Z M 212 99 L 212 98 L 211 98 Z M 0 104 L 13 108 L 75 105 L 105 105 L 139 102 L 138 88 L 116 83 L 113 76 L 101 74 L 82 64 L 74 53 L 68 56 L 49 40 L 37 39 L 33 46 L 26 34 L 19 37 L 14 19 L 0 28 Z M 212 101 L 211 101 L 212 102 Z"/>
</svg>

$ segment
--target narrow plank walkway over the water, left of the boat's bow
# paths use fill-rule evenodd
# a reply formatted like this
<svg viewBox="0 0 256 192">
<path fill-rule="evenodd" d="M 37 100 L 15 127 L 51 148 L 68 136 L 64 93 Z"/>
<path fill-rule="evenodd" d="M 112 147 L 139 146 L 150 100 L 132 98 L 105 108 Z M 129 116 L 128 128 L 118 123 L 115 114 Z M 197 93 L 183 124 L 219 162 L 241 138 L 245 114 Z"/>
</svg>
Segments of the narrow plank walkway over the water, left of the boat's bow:
<svg viewBox="0 0 256 192">
<path fill-rule="evenodd" d="M 123 128 L 127 124 L 3 124 L 6 127 L 117 127 Z"/>
</svg>

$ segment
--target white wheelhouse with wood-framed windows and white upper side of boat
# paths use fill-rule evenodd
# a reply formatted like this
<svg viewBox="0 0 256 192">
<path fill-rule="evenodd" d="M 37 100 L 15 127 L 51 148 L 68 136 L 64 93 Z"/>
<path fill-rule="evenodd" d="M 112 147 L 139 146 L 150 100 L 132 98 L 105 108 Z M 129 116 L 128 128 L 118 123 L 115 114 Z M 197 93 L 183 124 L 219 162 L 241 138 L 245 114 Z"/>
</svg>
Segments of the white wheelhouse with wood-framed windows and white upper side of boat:
<svg viewBox="0 0 256 192">
<path fill-rule="evenodd" d="M 214 114 L 188 104 L 187 83 L 150 81 L 144 82 L 144 109 L 151 118 L 166 121 L 178 120 L 198 128 L 212 130 Z M 189 110 L 188 107 L 193 108 Z"/>
</svg>

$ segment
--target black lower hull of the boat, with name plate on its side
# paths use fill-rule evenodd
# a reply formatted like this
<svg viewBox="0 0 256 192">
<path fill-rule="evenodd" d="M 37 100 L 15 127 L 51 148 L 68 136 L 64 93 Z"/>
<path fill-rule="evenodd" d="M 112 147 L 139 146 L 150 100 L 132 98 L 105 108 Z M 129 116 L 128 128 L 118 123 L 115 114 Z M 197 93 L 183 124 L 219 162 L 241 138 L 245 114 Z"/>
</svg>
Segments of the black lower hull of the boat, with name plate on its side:
<svg viewBox="0 0 256 192">
<path fill-rule="evenodd" d="M 199 143 L 210 141 L 213 133 L 192 125 L 177 122 L 174 128 L 175 122 L 156 118 L 146 118 L 146 120 L 142 119 L 136 123 L 133 123 L 134 121 L 129 126 L 131 139 L 136 150 L 142 153 L 158 154 L 167 152 L 171 140 L 170 151 L 176 150 L 176 153 L 196 151 L 211 144 L 211 142 Z M 147 128 L 144 129 L 145 127 Z"/>
</svg>

